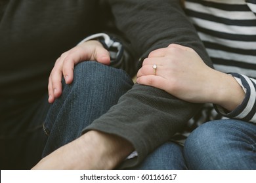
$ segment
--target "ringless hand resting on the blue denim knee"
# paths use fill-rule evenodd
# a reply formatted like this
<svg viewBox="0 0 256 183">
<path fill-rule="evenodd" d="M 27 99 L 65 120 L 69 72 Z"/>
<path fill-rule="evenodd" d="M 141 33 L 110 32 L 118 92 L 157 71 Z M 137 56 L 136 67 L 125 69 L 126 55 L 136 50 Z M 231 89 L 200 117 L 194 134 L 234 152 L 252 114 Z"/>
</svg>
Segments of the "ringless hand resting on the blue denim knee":
<svg viewBox="0 0 256 183">
<path fill-rule="evenodd" d="M 83 42 L 64 52 L 55 62 L 51 75 L 49 76 L 48 93 L 49 103 L 60 97 L 62 93 L 62 76 L 66 84 L 71 84 L 74 76 L 74 66 L 81 61 L 95 60 L 102 64 L 110 64 L 110 54 L 98 41 Z"/>
</svg>

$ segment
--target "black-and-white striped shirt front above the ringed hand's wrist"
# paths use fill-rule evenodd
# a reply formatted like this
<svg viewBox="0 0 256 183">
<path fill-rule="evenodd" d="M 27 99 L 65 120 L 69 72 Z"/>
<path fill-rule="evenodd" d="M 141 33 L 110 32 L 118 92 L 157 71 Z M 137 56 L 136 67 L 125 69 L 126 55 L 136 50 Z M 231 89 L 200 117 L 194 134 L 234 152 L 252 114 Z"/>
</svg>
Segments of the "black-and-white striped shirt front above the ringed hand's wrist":
<svg viewBox="0 0 256 183">
<path fill-rule="evenodd" d="M 186 1 L 186 13 L 198 30 L 215 69 L 256 78 L 255 3 Z"/>
</svg>

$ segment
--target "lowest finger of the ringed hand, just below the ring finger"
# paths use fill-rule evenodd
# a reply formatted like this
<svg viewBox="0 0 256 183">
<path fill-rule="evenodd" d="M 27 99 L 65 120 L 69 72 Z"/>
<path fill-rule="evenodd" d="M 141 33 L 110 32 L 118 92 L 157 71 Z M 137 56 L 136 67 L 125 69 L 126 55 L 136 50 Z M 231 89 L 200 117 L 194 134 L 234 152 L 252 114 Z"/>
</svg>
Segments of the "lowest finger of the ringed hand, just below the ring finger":
<svg viewBox="0 0 256 183">
<path fill-rule="evenodd" d="M 137 78 L 137 83 L 160 88 L 161 90 L 165 90 L 165 87 L 167 86 L 165 78 L 154 75 L 140 76 Z"/>
</svg>

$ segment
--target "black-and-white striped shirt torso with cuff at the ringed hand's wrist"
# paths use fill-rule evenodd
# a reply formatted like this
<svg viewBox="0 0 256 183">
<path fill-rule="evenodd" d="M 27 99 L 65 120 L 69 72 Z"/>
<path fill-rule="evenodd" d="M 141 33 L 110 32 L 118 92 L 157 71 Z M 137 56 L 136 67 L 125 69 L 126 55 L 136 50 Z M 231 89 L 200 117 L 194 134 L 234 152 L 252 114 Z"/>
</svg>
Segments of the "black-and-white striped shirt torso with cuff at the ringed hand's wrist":
<svg viewBox="0 0 256 183">
<path fill-rule="evenodd" d="M 221 118 L 256 123 L 256 0 L 186 0 L 186 14 L 218 71 L 234 76 L 246 95 L 230 113 L 207 104 L 188 122 L 186 131 L 173 141 L 184 139 L 198 125 Z"/>
</svg>

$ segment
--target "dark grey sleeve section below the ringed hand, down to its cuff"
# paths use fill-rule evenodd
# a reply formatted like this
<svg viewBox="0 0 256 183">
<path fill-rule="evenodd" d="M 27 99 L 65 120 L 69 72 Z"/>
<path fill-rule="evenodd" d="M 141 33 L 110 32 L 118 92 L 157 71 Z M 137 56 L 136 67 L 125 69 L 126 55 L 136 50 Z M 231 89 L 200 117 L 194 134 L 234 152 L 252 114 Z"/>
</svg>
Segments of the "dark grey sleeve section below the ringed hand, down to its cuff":
<svg viewBox="0 0 256 183">
<path fill-rule="evenodd" d="M 127 139 L 139 154 L 136 161 L 129 165 L 133 166 L 157 146 L 171 139 L 199 107 L 163 90 L 135 84 L 132 90 L 119 99 L 117 105 L 95 120 L 84 132 L 95 129 Z"/>
</svg>

